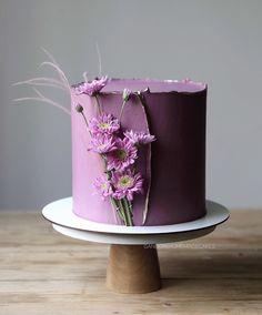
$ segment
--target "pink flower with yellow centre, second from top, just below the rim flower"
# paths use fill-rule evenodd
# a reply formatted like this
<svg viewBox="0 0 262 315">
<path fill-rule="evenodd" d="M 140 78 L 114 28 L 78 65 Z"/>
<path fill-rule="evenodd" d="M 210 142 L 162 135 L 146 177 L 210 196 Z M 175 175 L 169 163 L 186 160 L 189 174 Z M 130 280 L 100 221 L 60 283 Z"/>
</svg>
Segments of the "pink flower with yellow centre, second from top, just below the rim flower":
<svg viewBox="0 0 262 315">
<path fill-rule="evenodd" d="M 120 122 L 112 114 L 102 113 L 89 121 L 89 130 L 92 135 L 113 134 L 120 129 Z"/>
</svg>

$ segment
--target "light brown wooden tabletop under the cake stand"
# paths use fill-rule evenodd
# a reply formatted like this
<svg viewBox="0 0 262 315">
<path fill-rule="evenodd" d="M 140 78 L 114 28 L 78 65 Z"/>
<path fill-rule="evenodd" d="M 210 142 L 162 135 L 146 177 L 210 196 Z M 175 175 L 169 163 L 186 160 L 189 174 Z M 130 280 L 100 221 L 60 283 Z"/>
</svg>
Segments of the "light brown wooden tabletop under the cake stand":
<svg viewBox="0 0 262 315">
<path fill-rule="evenodd" d="M 109 246 L 53 231 L 41 212 L 0 212 L 0 314 L 262 314 L 262 211 L 232 211 L 202 238 L 158 246 L 162 288 L 117 294 Z"/>
</svg>

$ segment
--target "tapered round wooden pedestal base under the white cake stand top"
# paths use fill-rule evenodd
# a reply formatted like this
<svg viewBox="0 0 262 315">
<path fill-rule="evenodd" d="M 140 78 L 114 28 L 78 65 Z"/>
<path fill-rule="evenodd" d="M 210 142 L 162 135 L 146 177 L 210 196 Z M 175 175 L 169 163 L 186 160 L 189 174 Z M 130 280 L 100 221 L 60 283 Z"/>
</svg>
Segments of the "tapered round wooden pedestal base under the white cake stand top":
<svg viewBox="0 0 262 315">
<path fill-rule="evenodd" d="M 111 245 L 107 286 L 119 293 L 148 293 L 161 287 L 157 246 Z"/>
</svg>

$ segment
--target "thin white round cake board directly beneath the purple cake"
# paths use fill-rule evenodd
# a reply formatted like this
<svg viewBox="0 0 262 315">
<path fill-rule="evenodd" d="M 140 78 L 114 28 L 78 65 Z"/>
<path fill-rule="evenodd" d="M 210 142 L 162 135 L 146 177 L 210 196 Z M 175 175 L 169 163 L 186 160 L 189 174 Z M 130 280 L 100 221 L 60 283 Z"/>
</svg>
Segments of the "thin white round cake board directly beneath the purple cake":
<svg viewBox="0 0 262 315">
<path fill-rule="evenodd" d="M 42 210 L 43 216 L 56 226 L 68 227 L 85 232 L 98 232 L 107 234 L 169 234 L 179 232 L 191 232 L 201 228 L 212 227 L 229 219 L 229 211 L 221 204 L 206 201 L 205 216 L 195 221 L 158 226 L 124 226 L 95 223 L 77 216 L 72 212 L 72 197 L 54 201 Z M 57 227 L 54 227 L 58 230 Z M 62 232 L 61 232 L 62 233 Z"/>
</svg>

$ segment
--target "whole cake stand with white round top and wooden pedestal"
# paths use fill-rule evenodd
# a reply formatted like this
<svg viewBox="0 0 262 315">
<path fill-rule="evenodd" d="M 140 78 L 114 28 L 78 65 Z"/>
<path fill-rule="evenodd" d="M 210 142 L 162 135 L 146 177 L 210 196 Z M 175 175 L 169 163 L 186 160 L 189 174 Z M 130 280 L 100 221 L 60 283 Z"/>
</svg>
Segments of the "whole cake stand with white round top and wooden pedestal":
<svg viewBox="0 0 262 315">
<path fill-rule="evenodd" d="M 110 245 L 107 286 L 119 293 L 148 293 L 161 287 L 157 244 L 204 236 L 229 219 L 229 211 L 206 201 L 206 215 L 195 221 L 160 226 L 122 226 L 94 223 L 72 212 L 72 199 L 52 202 L 42 210 L 59 233 Z"/>
</svg>

